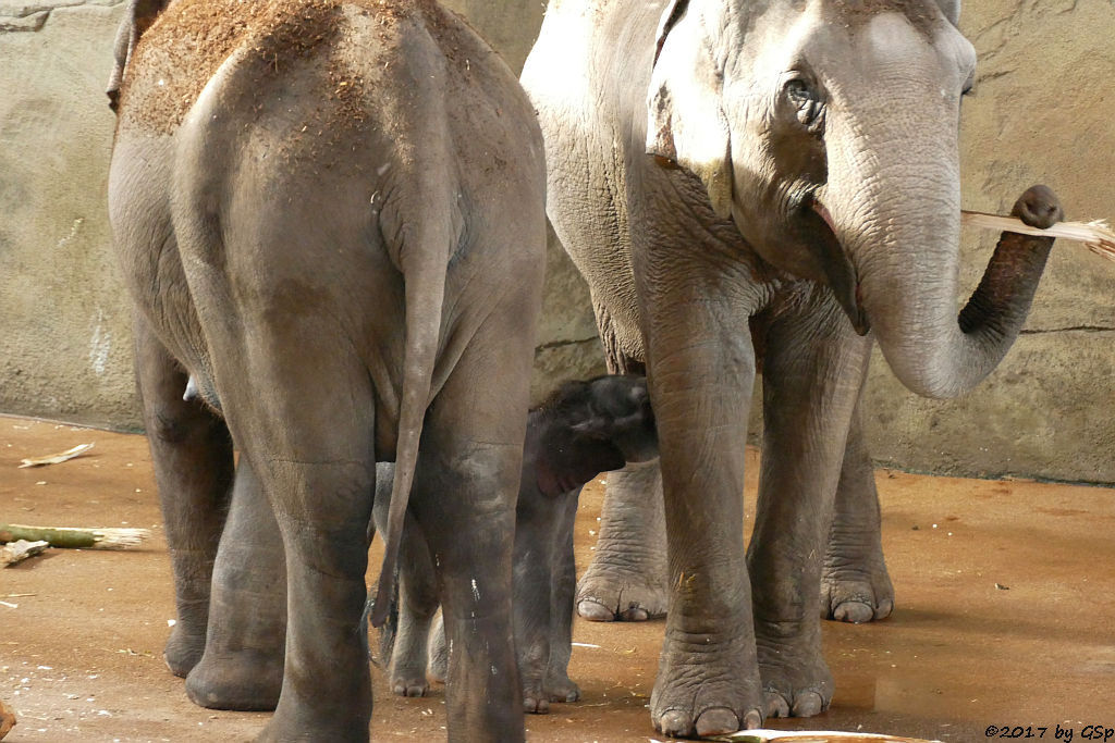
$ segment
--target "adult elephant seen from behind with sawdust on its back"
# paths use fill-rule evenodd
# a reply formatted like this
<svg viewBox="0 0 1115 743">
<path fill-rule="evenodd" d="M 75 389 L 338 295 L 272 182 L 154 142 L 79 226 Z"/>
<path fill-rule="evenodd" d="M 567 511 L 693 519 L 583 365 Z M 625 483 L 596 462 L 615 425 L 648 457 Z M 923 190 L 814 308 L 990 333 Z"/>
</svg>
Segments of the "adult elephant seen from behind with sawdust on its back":
<svg viewBox="0 0 1115 743">
<path fill-rule="evenodd" d="M 448 736 L 521 741 L 533 108 L 428 0 L 161 8 L 130 3 L 119 37 L 108 207 L 175 579 L 167 665 L 197 704 L 273 708 L 260 740 L 368 740 L 365 575 L 394 461 L 379 593 L 410 515 L 455 648 Z"/>
</svg>

